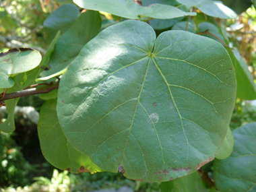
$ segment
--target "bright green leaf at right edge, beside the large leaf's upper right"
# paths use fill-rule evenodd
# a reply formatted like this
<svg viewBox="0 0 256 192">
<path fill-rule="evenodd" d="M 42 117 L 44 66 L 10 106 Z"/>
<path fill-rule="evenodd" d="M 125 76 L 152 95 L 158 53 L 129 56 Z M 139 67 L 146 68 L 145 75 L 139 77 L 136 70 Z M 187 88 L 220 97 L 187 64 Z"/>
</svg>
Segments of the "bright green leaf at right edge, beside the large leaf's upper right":
<svg viewBox="0 0 256 192">
<path fill-rule="evenodd" d="M 236 49 L 229 49 L 227 51 L 232 60 L 234 70 L 236 72 L 237 94 L 238 98 L 243 100 L 256 99 L 256 86 L 253 77 L 248 69 L 247 63 Z"/>
</svg>

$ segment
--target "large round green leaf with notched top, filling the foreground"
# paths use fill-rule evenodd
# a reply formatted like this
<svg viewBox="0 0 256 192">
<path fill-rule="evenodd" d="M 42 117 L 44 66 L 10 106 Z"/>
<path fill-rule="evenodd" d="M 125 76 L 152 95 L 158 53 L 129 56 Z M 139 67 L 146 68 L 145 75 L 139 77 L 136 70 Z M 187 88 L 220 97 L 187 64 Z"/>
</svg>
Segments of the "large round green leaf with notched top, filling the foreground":
<svg viewBox="0 0 256 192">
<path fill-rule="evenodd" d="M 220 43 L 177 30 L 156 39 L 129 20 L 100 32 L 69 65 L 57 113 L 70 143 L 100 168 L 168 181 L 213 160 L 235 94 Z"/>
</svg>

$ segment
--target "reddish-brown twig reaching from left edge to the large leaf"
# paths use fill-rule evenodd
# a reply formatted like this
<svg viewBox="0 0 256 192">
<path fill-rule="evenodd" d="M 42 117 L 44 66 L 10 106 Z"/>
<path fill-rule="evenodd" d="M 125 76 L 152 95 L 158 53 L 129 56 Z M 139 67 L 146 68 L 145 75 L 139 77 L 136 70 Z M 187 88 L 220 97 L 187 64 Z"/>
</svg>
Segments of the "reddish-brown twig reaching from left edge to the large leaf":
<svg viewBox="0 0 256 192">
<path fill-rule="evenodd" d="M 32 89 L 22 90 L 22 91 L 18 91 L 18 92 L 12 92 L 12 93 L 6 94 L 4 100 L 9 100 L 12 98 L 19 98 L 19 97 L 23 97 L 23 96 L 30 96 L 30 95 L 35 95 L 35 94 L 47 94 L 47 93 L 51 92 L 52 90 L 57 90 L 58 88 L 59 88 L 59 84 L 54 84 L 54 85 L 50 85 L 50 86 L 44 86 L 41 88 L 32 88 Z M 0 97 L 0 102 L 2 100 L 3 100 L 3 96 Z"/>
</svg>

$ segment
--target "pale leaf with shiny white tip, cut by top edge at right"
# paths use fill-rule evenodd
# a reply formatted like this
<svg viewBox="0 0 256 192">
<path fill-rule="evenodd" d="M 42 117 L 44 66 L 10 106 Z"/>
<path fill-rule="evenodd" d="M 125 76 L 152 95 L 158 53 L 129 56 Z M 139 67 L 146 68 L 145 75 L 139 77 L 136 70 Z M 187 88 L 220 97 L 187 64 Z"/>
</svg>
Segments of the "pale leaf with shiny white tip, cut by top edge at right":
<svg viewBox="0 0 256 192">
<path fill-rule="evenodd" d="M 237 17 L 236 13 L 225 5 L 221 1 L 212 0 L 177 0 L 179 3 L 187 6 L 197 7 L 200 11 L 206 15 L 210 15 L 214 18 L 221 19 L 234 19 Z"/>
</svg>

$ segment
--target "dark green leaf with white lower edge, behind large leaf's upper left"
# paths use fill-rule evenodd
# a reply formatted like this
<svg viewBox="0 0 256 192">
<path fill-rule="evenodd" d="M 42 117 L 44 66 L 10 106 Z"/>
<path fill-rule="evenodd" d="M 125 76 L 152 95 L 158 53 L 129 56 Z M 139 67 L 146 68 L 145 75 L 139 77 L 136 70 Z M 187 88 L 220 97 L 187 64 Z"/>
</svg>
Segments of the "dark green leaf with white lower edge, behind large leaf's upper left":
<svg viewBox="0 0 256 192">
<path fill-rule="evenodd" d="M 94 38 L 101 28 L 101 18 L 98 11 L 86 11 L 79 15 L 71 28 L 59 38 L 55 51 L 51 55 L 51 69 L 43 71 L 43 79 L 50 79 L 63 71 L 77 57 L 83 46 Z"/>
</svg>

